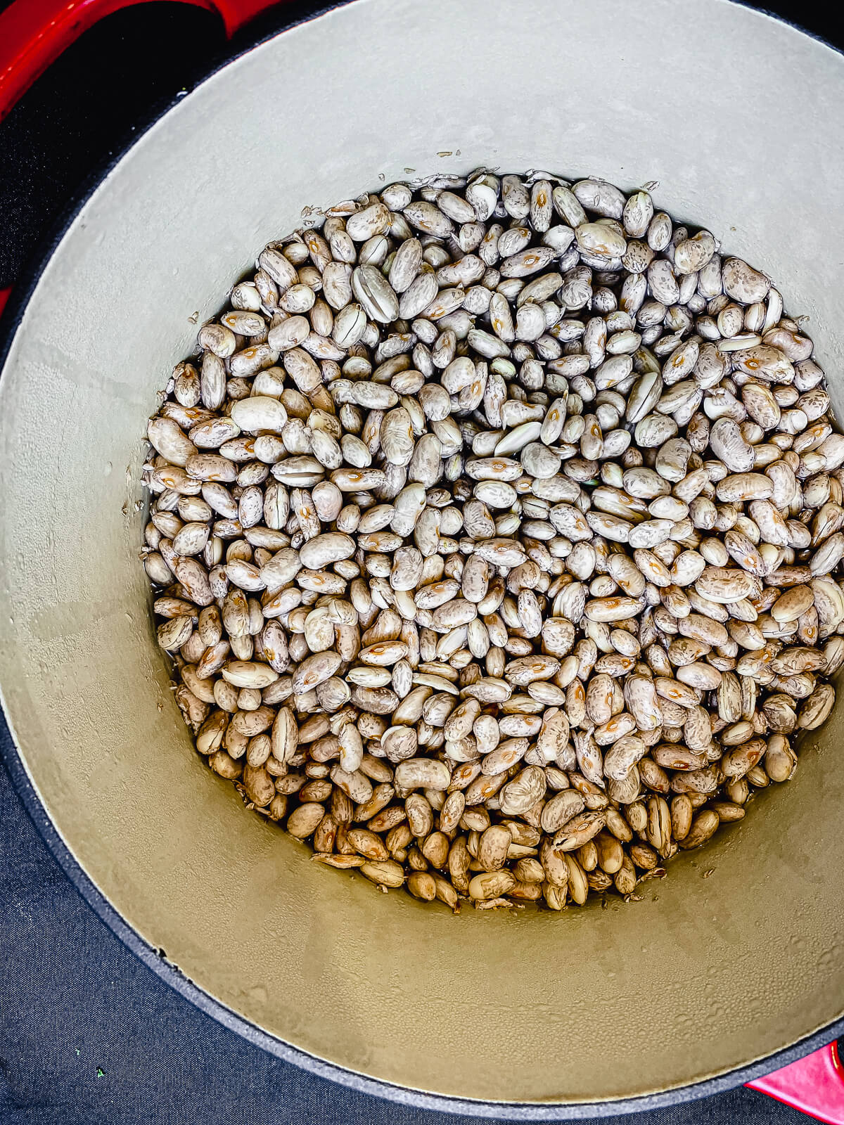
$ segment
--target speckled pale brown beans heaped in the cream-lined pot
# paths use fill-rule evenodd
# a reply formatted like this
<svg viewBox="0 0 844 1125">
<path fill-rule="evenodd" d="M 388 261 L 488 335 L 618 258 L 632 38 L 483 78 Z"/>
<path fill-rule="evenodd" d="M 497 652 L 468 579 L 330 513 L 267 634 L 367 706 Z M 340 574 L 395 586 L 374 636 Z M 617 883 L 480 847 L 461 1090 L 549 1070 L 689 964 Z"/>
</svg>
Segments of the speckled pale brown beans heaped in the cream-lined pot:
<svg viewBox="0 0 844 1125">
<path fill-rule="evenodd" d="M 454 910 L 635 896 L 797 766 L 844 663 L 844 436 L 780 292 L 545 172 L 309 210 L 149 423 L 196 748 Z"/>
</svg>

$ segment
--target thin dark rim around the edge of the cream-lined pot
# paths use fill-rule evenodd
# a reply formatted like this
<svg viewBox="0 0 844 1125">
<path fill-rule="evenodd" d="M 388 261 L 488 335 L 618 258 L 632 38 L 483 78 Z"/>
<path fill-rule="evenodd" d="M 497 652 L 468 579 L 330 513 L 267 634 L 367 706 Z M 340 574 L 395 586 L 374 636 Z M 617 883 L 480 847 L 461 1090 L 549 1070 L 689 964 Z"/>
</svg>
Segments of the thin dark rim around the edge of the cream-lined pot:
<svg viewBox="0 0 844 1125">
<path fill-rule="evenodd" d="M 231 62 L 249 54 L 255 47 L 277 38 L 294 27 L 311 22 L 320 16 L 347 7 L 354 0 L 335 0 L 335 2 L 323 4 L 307 2 L 279 3 L 278 7 L 271 8 L 269 11 L 258 16 L 244 30 L 239 32 L 234 37 L 236 44 L 234 50 L 223 50 L 217 53 L 209 61 L 203 76 L 192 83 L 189 92 L 192 92 L 194 89 L 224 70 Z M 776 12 L 756 7 L 749 0 L 721 0 L 721 2 L 749 8 L 758 16 L 784 24 L 792 30 L 829 47 L 836 54 L 844 55 L 844 51 L 829 43 L 821 35 L 809 32 L 807 28 L 801 27 L 793 20 L 785 19 Z M 131 132 L 126 133 L 114 146 L 109 155 L 99 161 L 89 176 L 86 177 L 69 202 L 50 225 L 47 233 L 38 240 L 34 250 L 27 256 L 25 266 L 15 281 L 6 308 L 0 313 L 0 378 L 2 378 L 12 340 L 23 321 L 24 313 L 35 287 L 71 224 L 111 170 L 119 164 L 124 156 L 128 154 L 153 125 L 181 102 L 183 97 L 185 94 L 181 97 L 162 98 L 153 105 L 145 115 L 142 124 L 134 126 Z M 844 1036 L 844 1017 L 842 1017 L 826 1025 L 820 1030 L 799 1040 L 797 1043 L 783 1047 L 781 1051 L 776 1051 L 748 1065 L 738 1066 L 713 1078 L 703 1079 L 702 1081 L 686 1086 L 675 1086 L 656 1094 L 643 1094 L 629 1098 L 617 1098 L 596 1102 L 514 1102 L 464 1099 L 397 1086 L 393 1082 L 370 1078 L 367 1074 L 339 1066 L 335 1063 L 309 1054 L 299 1047 L 295 1047 L 284 1040 L 277 1038 L 275 1035 L 270 1035 L 255 1024 L 239 1016 L 210 993 L 195 984 L 180 971 L 178 965 L 167 958 L 163 950 L 153 948 L 126 922 L 75 860 L 42 804 L 35 785 L 24 765 L 14 727 L 3 703 L 1 685 L 0 712 L 0 720 L 6 720 L 9 731 L 8 746 L 6 745 L 6 740 L 0 738 L 0 760 L 6 765 L 18 798 L 23 802 L 29 819 L 53 858 L 59 863 L 75 890 L 111 933 L 151 972 L 155 973 L 156 976 L 173 988 L 190 1004 L 206 1015 L 212 1016 L 224 1027 L 242 1036 L 246 1042 L 282 1059 L 285 1062 L 293 1063 L 300 1070 L 305 1070 L 318 1078 L 330 1079 L 359 1094 L 386 1098 L 401 1105 L 432 1109 L 440 1113 L 464 1114 L 473 1117 L 497 1117 L 506 1120 L 580 1120 L 592 1117 L 613 1117 L 620 1114 L 663 1109 L 685 1101 L 711 1097 L 715 1094 L 726 1092 L 754 1079 L 770 1074 L 774 1070 L 779 1070 L 812 1051 L 826 1046 L 832 1040 Z"/>
</svg>

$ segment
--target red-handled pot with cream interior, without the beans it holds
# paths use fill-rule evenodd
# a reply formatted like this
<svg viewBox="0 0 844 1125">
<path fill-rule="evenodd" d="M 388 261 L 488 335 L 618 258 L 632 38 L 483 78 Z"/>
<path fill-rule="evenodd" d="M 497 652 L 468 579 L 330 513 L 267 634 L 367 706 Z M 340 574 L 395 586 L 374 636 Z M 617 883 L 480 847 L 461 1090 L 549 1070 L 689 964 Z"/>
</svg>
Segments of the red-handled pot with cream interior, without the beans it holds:
<svg viewBox="0 0 844 1125">
<path fill-rule="evenodd" d="M 38 42 L 17 75 L 54 53 Z M 841 407 L 843 99 L 835 51 L 725 0 L 357 0 L 170 107 L 21 279 L 0 352 L 8 764 L 80 890 L 194 1002 L 359 1089 L 523 1119 L 711 1094 L 844 1029 L 842 705 L 794 784 L 641 901 L 455 918 L 245 814 L 192 752 L 138 562 L 145 420 L 196 324 L 304 206 L 408 176 L 661 180 L 659 206 L 810 316 Z M 785 1096 L 842 1120 L 841 1096 L 811 1102 L 841 1090 L 834 1060 Z"/>
</svg>

